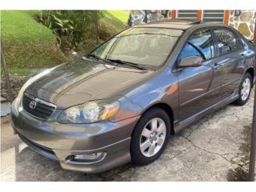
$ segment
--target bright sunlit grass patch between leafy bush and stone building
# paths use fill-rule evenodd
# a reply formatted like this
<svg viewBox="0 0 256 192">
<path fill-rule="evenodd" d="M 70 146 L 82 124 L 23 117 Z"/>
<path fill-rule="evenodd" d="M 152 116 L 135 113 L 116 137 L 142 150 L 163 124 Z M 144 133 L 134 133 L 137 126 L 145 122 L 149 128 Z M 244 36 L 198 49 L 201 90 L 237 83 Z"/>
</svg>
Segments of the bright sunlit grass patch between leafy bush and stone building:
<svg viewBox="0 0 256 192">
<path fill-rule="evenodd" d="M 102 22 L 109 26 L 114 26 L 118 31 L 123 30 L 127 26 L 129 11 L 126 10 L 102 10 Z"/>
</svg>

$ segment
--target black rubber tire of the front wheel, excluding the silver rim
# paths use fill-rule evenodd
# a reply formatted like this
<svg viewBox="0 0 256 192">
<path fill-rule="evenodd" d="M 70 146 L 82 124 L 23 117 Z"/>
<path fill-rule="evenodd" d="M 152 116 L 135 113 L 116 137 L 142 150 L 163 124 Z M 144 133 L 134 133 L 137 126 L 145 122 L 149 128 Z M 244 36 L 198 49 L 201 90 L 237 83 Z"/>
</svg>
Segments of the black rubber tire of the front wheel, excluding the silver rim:
<svg viewBox="0 0 256 192">
<path fill-rule="evenodd" d="M 152 157 L 146 157 L 142 154 L 140 150 L 140 138 L 141 138 L 141 134 L 144 126 L 146 126 L 146 123 L 150 122 L 152 118 L 162 118 L 162 120 L 166 123 L 166 138 L 165 138 L 165 142 L 162 145 L 162 148 L 158 151 L 157 154 L 154 154 L 154 156 Z M 168 114 L 166 114 L 165 110 L 162 110 L 161 108 L 158 108 L 158 107 L 154 107 L 146 111 L 146 113 L 142 115 L 137 125 L 134 127 L 134 132 L 132 134 L 131 144 L 130 144 L 130 154 L 131 154 L 132 162 L 138 166 L 143 166 L 143 165 L 149 164 L 150 162 L 154 162 L 154 160 L 158 159 L 161 156 L 162 152 L 165 150 L 169 137 L 170 137 L 170 118 Z"/>
</svg>

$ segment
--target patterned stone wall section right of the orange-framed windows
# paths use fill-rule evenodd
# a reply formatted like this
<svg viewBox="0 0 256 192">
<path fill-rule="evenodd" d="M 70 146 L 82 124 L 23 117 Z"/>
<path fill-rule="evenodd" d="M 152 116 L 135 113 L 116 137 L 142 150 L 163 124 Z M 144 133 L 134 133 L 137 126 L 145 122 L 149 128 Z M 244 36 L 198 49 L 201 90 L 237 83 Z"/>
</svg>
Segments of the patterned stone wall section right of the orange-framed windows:
<svg viewBox="0 0 256 192">
<path fill-rule="evenodd" d="M 256 10 L 241 10 L 239 16 L 235 16 L 235 11 L 230 10 L 229 25 L 236 28 L 246 38 L 254 38 Z"/>
</svg>

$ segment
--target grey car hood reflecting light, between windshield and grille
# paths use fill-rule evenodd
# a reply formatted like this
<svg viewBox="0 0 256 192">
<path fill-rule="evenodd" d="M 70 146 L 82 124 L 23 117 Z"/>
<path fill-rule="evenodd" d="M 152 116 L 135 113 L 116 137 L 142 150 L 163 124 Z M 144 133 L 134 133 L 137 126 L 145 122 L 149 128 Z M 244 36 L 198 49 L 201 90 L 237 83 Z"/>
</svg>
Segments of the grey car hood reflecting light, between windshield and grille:
<svg viewBox="0 0 256 192">
<path fill-rule="evenodd" d="M 26 93 L 66 108 L 90 100 L 113 99 L 153 73 L 79 58 L 39 75 Z"/>
</svg>

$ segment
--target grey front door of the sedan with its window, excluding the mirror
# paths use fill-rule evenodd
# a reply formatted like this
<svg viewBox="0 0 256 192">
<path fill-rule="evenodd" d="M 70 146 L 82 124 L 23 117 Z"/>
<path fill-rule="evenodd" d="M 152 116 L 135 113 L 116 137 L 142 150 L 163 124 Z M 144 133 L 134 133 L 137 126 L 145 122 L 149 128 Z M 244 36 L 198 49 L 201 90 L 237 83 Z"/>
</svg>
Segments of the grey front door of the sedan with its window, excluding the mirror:
<svg viewBox="0 0 256 192">
<path fill-rule="evenodd" d="M 221 74 L 215 65 L 214 41 L 210 29 L 191 35 L 178 61 L 190 56 L 204 59 L 202 66 L 186 67 L 178 71 L 179 121 L 190 118 L 219 101 Z"/>
</svg>

